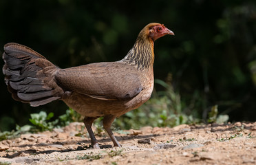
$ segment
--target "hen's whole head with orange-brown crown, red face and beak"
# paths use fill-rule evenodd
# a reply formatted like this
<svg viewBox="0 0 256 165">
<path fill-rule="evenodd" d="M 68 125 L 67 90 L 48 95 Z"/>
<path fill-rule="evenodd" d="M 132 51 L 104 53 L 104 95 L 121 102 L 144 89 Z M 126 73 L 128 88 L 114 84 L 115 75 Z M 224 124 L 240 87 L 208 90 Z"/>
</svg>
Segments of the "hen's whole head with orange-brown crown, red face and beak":
<svg viewBox="0 0 256 165">
<path fill-rule="evenodd" d="M 160 23 L 149 23 L 145 26 L 140 32 L 142 36 L 146 36 L 148 39 L 152 41 L 156 41 L 162 36 L 167 34 L 174 35 L 174 33 L 166 28 L 163 24 Z"/>
</svg>

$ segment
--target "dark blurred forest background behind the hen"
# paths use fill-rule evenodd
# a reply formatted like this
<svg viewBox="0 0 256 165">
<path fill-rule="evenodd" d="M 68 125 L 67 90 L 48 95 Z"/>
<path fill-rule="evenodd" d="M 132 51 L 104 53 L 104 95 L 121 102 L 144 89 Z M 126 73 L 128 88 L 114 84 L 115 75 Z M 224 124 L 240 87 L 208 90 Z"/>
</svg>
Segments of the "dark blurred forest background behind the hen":
<svg viewBox="0 0 256 165">
<path fill-rule="evenodd" d="M 175 36 L 155 43 L 159 80 L 143 109 L 159 109 L 162 120 L 182 113 L 203 121 L 217 105 L 228 121 L 256 120 L 255 0 L 1 0 L 0 20 L 1 54 L 4 44 L 21 43 L 61 68 L 119 61 L 145 25 L 164 23 Z M 16 102 L 3 79 L 0 74 L 0 131 L 28 123 L 30 113 L 57 117 L 68 109 L 61 101 L 41 107 Z M 117 122 L 142 122 L 146 117 L 138 112 Z"/>
</svg>

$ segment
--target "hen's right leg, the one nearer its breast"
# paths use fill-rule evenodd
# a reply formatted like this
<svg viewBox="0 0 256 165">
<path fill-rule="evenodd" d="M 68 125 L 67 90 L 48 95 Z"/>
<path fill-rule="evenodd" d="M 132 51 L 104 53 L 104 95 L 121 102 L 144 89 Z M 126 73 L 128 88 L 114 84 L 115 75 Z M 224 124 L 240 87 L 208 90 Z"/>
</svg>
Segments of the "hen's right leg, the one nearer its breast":
<svg viewBox="0 0 256 165">
<path fill-rule="evenodd" d="M 115 118 L 116 118 L 115 115 L 105 115 L 103 119 L 103 126 L 104 126 L 104 129 L 109 134 L 109 137 L 111 138 L 112 142 L 114 143 L 114 146 L 121 146 L 116 140 L 116 137 L 114 136 L 113 132 L 110 129 L 110 126 L 112 122 L 115 120 Z"/>
</svg>

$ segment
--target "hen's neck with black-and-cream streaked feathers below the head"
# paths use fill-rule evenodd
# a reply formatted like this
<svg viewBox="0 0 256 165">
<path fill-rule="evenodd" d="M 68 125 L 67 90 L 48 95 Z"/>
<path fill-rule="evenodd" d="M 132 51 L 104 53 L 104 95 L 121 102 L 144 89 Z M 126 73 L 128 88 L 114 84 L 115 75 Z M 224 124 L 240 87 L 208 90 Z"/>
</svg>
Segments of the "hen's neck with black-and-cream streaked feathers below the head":
<svg viewBox="0 0 256 165">
<path fill-rule="evenodd" d="M 139 70 L 151 69 L 154 61 L 153 41 L 139 35 L 134 47 L 121 61 L 134 65 Z"/>
</svg>

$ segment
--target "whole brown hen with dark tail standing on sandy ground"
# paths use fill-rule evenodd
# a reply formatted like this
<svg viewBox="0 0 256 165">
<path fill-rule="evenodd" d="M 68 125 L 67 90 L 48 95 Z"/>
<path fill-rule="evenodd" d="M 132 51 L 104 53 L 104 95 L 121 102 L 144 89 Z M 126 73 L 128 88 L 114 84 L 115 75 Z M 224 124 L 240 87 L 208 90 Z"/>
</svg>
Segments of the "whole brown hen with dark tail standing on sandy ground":
<svg viewBox="0 0 256 165">
<path fill-rule="evenodd" d="M 32 107 L 63 100 L 84 116 L 93 148 L 99 149 L 92 123 L 103 116 L 103 127 L 114 146 L 121 146 L 111 124 L 137 109 L 153 91 L 154 42 L 174 33 L 160 23 L 149 23 L 120 61 L 89 63 L 61 69 L 44 56 L 18 43 L 3 47 L 3 74 L 14 100 Z"/>
</svg>

